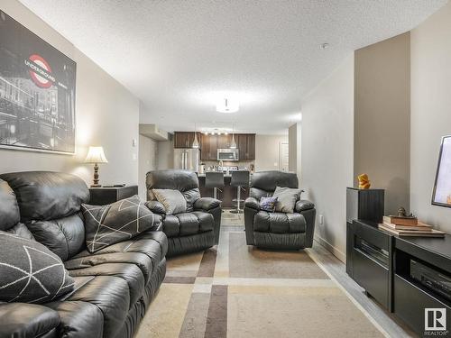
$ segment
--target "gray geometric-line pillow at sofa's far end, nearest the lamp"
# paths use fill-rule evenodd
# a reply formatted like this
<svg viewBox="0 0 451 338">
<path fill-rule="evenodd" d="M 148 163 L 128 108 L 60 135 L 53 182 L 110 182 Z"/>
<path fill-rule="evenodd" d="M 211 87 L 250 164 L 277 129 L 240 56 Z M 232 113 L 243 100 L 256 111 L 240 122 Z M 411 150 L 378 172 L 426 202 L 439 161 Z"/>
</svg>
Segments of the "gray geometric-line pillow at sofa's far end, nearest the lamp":
<svg viewBox="0 0 451 338">
<path fill-rule="evenodd" d="M 94 253 L 148 230 L 158 230 L 152 211 L 135 195 L 106 206 L 81 205 L 87 251 Z"/>
</svg>

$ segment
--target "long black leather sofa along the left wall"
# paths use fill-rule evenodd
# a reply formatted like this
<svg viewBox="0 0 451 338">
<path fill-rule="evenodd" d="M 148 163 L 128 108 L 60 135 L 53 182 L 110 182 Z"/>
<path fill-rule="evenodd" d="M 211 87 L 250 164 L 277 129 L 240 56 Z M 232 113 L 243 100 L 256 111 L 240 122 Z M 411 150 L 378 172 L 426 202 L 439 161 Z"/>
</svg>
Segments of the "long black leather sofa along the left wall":
<svg viewBox="0 0 451 338">
<path fill-rule="evenodd" d="M 164 279 L 167 238 L 143 233 L 90 254 L 79 213 L 88 198 L 86 184 L 69 174 L 0 175 L 0 230 L 43 243 L 76 282 L 48 304 L 1 303 L 0 337 L 133 336 Z"/>
</svg>

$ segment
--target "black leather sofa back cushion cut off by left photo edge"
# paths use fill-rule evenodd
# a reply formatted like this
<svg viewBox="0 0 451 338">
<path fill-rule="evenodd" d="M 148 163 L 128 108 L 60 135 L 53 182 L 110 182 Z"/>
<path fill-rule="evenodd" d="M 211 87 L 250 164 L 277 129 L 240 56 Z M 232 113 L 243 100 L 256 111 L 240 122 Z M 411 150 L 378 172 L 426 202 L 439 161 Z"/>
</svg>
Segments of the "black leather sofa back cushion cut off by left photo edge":
<svg viewBox="0 0 451 338">
<path fill-rule="evenodd" d="M 19 205 L 14 191 L 7 182 L 0 179 L 0 230 L 9 230 L 20 220 Z"/>
</svg>

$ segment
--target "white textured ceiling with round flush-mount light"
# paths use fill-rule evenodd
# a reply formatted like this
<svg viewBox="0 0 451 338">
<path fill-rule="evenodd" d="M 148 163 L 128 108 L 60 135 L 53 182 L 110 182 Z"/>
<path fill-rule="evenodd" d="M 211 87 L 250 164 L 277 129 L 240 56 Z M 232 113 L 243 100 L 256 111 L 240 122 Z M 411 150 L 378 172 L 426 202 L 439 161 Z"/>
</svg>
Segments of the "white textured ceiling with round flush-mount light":
<svg viewBox="0 0 451 338">
<path fill-rule="evenodd" d="M 407 32 L 446 0 L 21 0 L 168 131 L 281 133 L 352 50 Z M 321 50 L 319 45 L 329 43 Z M 215 111 L 231 93 L 240 111 Z"/>
</svg>

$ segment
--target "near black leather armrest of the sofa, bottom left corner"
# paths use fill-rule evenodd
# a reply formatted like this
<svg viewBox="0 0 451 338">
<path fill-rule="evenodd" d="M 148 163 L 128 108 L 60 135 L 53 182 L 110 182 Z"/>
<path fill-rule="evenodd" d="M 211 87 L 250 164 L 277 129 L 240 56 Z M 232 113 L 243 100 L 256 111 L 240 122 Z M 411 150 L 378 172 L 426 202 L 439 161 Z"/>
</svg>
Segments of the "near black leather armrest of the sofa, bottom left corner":
<svg viewBox="0 0 451 338">
<path fill-rule="evenodd" d="M 47 306 L 26 303 L 0 305 L 0 336 L 34 338 L 60 324 L 60 315 Z"/>
</svg>

